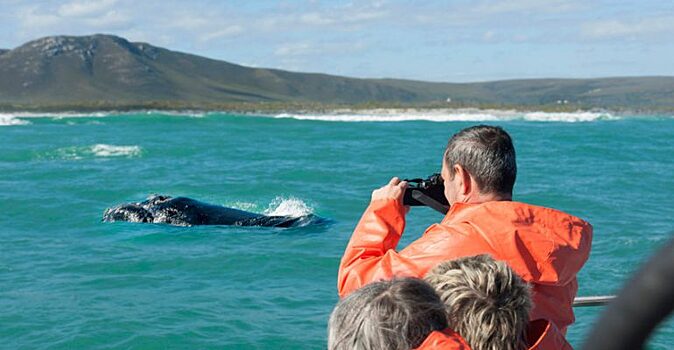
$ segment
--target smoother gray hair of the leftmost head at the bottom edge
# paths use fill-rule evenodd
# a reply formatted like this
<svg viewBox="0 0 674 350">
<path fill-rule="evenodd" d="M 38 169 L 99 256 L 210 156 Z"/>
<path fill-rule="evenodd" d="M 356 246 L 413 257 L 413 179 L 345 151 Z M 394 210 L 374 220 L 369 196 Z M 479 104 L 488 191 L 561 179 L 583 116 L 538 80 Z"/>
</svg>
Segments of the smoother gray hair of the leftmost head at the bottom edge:
<svg viewBox="0 0 674 350">
<path fill-rule="evenodd" d="M 428 283 L 416 278 L 374 282 L 335 306 L 328 349 L 409 350 L 445 328 L 444 304 Z"/>
</svg>

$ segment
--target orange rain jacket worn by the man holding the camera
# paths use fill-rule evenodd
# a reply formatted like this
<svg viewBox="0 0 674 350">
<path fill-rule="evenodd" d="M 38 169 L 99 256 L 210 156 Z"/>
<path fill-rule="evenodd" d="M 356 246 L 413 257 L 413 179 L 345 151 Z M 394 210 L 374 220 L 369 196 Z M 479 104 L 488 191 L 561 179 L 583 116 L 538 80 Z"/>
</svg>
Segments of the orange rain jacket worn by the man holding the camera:
<svg viewBox="0 0 674 350">
<path fill-rule="evenodd" d="M 530 319 L 550 320 L 562 334 L 575 321 L 576 273 L 590 253 L 592 226 L 558 210 L 511 201 L 456 203 L 445 218 L 396 252 L 405 209 L 396 200 L 370 204 L 339 267 L 340 297 L 373 281 L 423 277 L 451 259 L 490 254 L 532 284 Z"/>
</svg>

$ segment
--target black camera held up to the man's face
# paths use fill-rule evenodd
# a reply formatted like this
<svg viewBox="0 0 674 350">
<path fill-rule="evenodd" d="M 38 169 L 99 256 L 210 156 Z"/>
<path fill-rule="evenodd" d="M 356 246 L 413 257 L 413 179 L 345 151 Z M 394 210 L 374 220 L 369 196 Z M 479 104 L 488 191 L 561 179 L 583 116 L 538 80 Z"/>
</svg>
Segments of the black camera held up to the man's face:
<svg viewBox="0 0 674 350">
<path fill-rule="evenodd" d="M 428 206 L 443 214 L 449 210 L 445 197 L 445 185 L 440 174 L 433 174 L 427 179 L 405 179 L 407 190 L 403 196 L 403 204 L 411 206 Z"/>
</svg>

